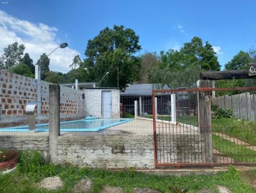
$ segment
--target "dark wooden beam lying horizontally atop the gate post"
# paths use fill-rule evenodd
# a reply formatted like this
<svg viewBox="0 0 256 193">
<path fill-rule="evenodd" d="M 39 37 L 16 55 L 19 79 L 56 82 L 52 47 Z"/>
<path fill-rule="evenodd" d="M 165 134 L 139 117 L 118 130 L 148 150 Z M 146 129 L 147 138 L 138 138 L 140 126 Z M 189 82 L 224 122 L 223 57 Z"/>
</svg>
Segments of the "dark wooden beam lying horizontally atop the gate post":
<svg viewBox="0 0 256 193">
<path fill-rule="evenodd" d="M 225 70 L 201 72 L 201 80 L 249 79 L 248 70 Z"/>
</svg>

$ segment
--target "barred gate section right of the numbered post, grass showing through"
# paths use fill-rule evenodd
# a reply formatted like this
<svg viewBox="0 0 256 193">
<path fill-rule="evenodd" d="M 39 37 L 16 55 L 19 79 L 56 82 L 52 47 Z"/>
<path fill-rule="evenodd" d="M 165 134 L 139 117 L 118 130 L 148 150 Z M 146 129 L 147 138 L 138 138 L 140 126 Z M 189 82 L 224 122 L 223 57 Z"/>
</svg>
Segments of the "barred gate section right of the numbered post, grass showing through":
<svg viewBox="0 0 256 193">
<path fill-rule="evenodd" d="M 212 99 L 214 162 L 255 164 L 256 88 L 216 91 Z"/>
</svg>

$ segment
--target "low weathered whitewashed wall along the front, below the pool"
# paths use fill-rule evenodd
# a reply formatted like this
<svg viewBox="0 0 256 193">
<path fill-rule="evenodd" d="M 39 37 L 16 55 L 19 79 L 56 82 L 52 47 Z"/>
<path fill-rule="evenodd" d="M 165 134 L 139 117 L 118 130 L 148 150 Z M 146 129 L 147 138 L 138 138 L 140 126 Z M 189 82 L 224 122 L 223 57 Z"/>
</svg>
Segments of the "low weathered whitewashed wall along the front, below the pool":
<svg viewBox="0 0 256 193">
<path fill-rule="evenodd" d="M 167 135 L 165 135 L 166 137 Z M 157 136 L 157 158 L 161 163 L 205 162 L 204 140 L 200 135 Z M 170 138 L 169 138 L 170 137 Z M 166 141 L 170 143 L 166 144 Z M 49 157 L 48 136 L 1 136 L 0 148 L 39 150 Z M 164 142 L 164 144 L 163 144 Z M 164 155 L 163 156 L 163 149 Z M 166 151 L 167 150 L 167 151 Z M 102 168 L 154 168 L 153 134 L 109 134 L 58 136 L 57 163 Z"/>
</svg>

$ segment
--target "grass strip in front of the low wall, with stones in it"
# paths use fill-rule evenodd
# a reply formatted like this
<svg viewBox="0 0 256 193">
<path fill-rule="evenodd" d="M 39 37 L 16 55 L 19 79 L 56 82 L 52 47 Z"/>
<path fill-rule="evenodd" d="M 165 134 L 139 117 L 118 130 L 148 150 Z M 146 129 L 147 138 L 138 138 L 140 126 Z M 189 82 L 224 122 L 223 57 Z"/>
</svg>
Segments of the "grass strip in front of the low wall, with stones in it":
<svg viewBox="0 0 256 193">
<path fill-rule="evenodd" d="M 0 192 L 53 192 L 36 188 L 36 183 L 48 176 L 60 176 L 65 187 L 56 192 L 72 192 L 77 181 L 87 176 L 93 181 L 93 192 L 100 192 L 103 185 L 122 187 L 124 192 L 131 192 L 134 187 L 148 187 L 161 192 L 197 192 L 208 188 L 216 191 L 216 185 L 228 187 L 233 192 L 255 192 L 256 190 L 246 183 L 241 174 L 230 167 L 227 172 L 214 175 L 189 176 L 157 176 L 129 171 L 108 171 L 105 169 L 88 169 L 74 166 L 54 166 L 45 164 L 38 158 L 38 153 L 20 158 L 17 170 L 10 174 L 0 175 Z M 27 157 L 27 158 L 26 158 Z M 29 157 L 29 158 L 28 158 Z"/>
</svg>

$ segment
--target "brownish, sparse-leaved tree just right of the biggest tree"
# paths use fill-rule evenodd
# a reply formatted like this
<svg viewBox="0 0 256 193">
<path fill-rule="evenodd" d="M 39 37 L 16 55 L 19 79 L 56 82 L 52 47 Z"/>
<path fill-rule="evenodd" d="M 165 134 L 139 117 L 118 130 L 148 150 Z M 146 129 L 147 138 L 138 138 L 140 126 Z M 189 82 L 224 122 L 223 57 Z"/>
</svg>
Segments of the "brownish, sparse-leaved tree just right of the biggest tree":
<svg viewBox="0 0 256 193">
<path fill-rule="evenodd" d="M 141 66 L 140 73 L 138 76 L 138 82 L 140 83 L 150 83 L 150 75 L 154 68 L 158 65 L 159 61 L 157 59 L 156 53 L 145 53 L 141 56 Z"/>
</svg>

